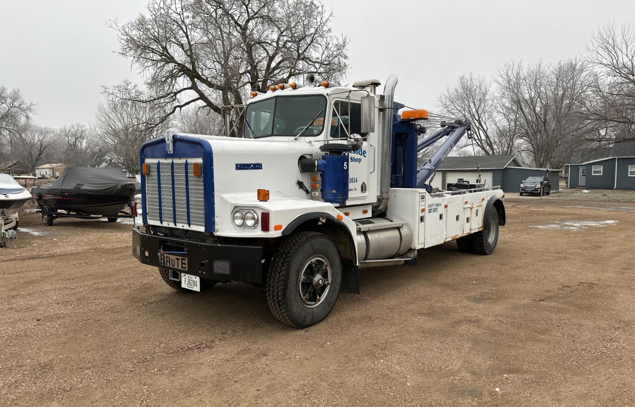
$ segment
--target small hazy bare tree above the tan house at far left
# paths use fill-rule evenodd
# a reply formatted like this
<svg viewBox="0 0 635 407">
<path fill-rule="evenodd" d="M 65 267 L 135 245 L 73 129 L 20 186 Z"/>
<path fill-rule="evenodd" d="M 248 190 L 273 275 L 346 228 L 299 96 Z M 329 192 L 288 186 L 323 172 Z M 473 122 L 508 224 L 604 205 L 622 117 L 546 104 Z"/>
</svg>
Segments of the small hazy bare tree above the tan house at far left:
<svg viewBox="0 0 635 407">
<path fill-rule="evenodd" d="M 44 164 L 46 154 L 57 141 L 55 130 L 50 127 L 36 126 L 32 122 L 26 122 L 15 129 L 14 137 L 15 157 L 30 172 L 35 172 L 37 165 Z"/>
</svg>

